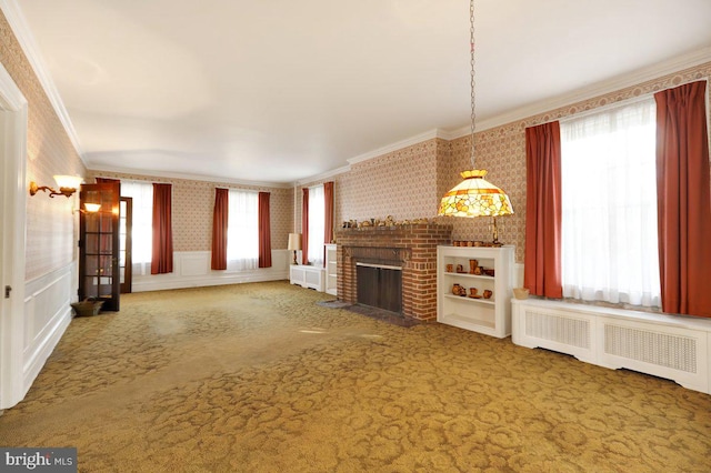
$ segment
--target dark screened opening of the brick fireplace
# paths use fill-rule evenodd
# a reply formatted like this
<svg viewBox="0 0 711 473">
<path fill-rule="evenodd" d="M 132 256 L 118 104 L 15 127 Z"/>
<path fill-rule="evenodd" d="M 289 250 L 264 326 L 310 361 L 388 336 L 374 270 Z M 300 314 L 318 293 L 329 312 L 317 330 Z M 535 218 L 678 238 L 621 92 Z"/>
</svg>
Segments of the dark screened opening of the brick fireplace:
<svg viewBox="0 0 711 473">
<path fill-rule="evenodd" d="M 358 303 L 402 313 L 402 268 L 356 263 Z"/>
</svg>

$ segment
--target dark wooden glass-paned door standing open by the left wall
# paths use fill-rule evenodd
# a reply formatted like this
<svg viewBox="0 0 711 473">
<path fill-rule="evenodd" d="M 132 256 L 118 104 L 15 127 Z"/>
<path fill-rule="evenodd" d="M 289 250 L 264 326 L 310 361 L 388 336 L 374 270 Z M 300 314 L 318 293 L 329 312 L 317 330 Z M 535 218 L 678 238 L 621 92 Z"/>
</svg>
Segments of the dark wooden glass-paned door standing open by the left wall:
<svg viewBox="0 0 711 473">
<path fill-rule="evenodd" d="M 79 300 L 93 298 L 102 310 L 118 311 L 119 183 L 83 184 L 79 194 Z M 98 203 L 98 212 L 86 212 L 86 203 Z"/>
</svg>

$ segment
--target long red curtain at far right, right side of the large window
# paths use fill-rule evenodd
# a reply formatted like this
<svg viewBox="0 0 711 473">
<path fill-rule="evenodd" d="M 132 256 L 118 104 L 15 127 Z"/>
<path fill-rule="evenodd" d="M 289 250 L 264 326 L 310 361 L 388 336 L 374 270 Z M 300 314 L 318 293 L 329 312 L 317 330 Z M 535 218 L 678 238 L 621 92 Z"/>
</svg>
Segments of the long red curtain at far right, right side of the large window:
<svg viewBox="0 0 711 473">
<path fill-rule="evenodd" d="M 705 81 L 654 94 L 662 310 L 711 316 Z"/>
</svg>

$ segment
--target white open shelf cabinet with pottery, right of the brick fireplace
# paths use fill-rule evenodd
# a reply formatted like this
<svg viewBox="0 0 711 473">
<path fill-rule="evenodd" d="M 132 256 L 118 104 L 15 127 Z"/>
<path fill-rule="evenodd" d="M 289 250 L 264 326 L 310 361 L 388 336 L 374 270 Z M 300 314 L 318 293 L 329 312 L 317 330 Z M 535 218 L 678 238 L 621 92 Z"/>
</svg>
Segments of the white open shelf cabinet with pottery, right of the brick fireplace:
<svg viewBox="0 0 711 473">
<path fill-rule="evenodd" d="M 513 249 L 438 246 L 437 321 L 500 339 L 510 335 Z M 463 295 L 454 294 L 455 284 Z"/>
</svg>

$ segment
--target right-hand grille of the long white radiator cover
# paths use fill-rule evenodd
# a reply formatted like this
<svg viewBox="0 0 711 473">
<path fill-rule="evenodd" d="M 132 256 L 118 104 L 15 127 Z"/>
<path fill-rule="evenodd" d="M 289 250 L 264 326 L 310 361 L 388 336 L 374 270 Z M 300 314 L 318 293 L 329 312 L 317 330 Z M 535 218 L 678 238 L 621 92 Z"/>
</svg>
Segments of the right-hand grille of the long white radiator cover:
<svg viewBox="0 0 711 473">
<path fill-rule="evenodd" d="M 605 324 L 604 351 L 658 366 L 697 372 L 697 341 L 689 336 Z"/>
</svg>

